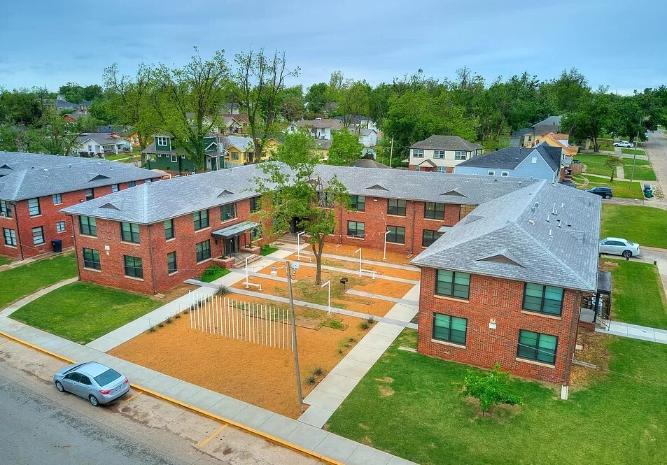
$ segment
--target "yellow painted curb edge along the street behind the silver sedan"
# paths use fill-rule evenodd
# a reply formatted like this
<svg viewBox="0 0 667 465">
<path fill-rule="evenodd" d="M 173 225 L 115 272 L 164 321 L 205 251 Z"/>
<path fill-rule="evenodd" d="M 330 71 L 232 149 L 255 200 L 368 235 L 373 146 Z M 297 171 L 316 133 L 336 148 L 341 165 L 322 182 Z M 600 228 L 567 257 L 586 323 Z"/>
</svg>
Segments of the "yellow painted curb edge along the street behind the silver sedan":
<svg viewBox="0 0 667 465">
<path fill-rule="evenodd" d="M 22 345 L 26 345 L 27 347 L 37 350 L 38 352 L 42 352 L 46 355 L 50 355 L 51 357 L 55 357 L 59 360 L 62 360 L 63 362 L 67 362 L 70 364 L 76 363 L 72 359 L 69 359 L 67 357 L 63 357 L 62 355 L 58 355 L 55 352 L 51 352 L 50 350 L 43 349 L 39 347 L 38 345 L 31 344 L 27 341 L 23 341 L 20 338 L 17 338 L 15 336 L 12 336 L 11 334 L 7 334 L 3 331 L 0 331 L 0 336 L 6 337 L 12 341 L 15 341 L 17 343 L 20 343 Z M 330 459 L 329 457 L 325 457 L 324 455 L 318 454 L 317 452 L 313 452 L 312 450 L 304 449 L 299 445 L 293 444 L 293 443 L 288 443 L 287 441 L 283 441 L 281 438 L 276 438 L 275 436 L 271 436 L 270 434 L 262 433 L 262 431 L 259 431 L 257 429 L 248 427 L 245 424 L 241 424 L 238 422 L 234 422 L 233 420 L 228 420 L 225 417 L 220 417 L 219 415 L 215 415 L 211 412 L 207 412 L 206 410 L 203 410 L 202 408 L 191 406 L 188 403 L 178 401 L 176 399 L 172 399 L 171 397 L 164 396 L 163 394 L 160 394 L 159 392 L 155 392 L 152 389 L 147 389 L 146 387 L 142 387 L 139 385 L 135 385 L 134 383 L 130 382 L 130 385 L 134 387 L 135 389 L 138 389 L 139 391 L 143 392 L 144 394 L 149 394 L 153 397 L 156 397 L 157 399 L 162 399 L 163 401 L 167 401 L 169 403 L 173 403 L 174 405 L 181 406 L 183 408 L 186 408 L 188 410 L 191 410 L 192 412 L 199 413 L 199 415 L 202 415 L 204 417 L 209 417 L 213 420 L 216 420 L 218 422 L 226 423 L 232 425 L 232 427 L 237 427 L 238 429 L 241 429 L 243 431 L 246 431 L 250 434 L 254 434 L 255 436 L 259 436 L 260 438 L 264 438 L 267 441 L 271 443 L 276 443 L 284 448 L 288 448 L 290 450 L 294 450 L 295 452 L 300 452 L 303 455 L 308 455 L 309 457 L 313 457 L 315 459 L 321 460 L 323 462 L 326 462 L 331 465 L 344 465 L 342 462 L 338 462 L 337 460 Z"/>
</svg>

